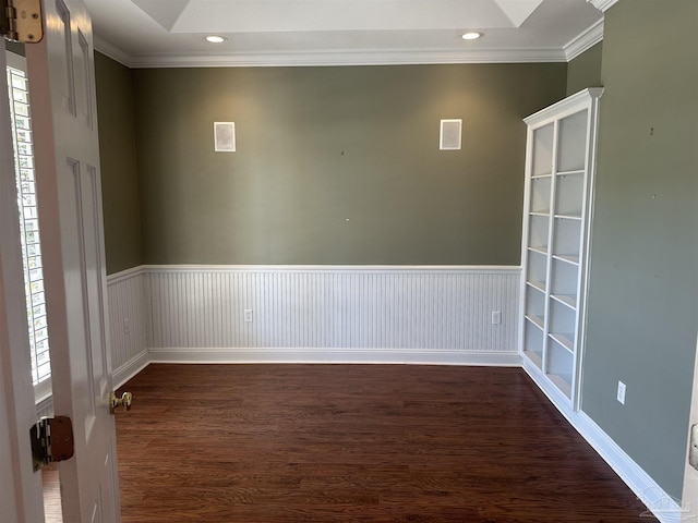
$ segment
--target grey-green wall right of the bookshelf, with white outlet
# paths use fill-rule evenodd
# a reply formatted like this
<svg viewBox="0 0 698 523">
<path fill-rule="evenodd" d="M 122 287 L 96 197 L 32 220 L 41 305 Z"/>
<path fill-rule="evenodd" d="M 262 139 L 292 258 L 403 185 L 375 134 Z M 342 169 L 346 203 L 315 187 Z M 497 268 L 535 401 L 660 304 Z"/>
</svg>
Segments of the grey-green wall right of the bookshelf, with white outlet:
<svg viewBox="0 0 698 523">
<path fill-rule="evenodd" d="M 697 34 L 694 0 L 605 15 L 582 385 L 583 411 L 677 499 L 698 318 Z"/>
</svg>

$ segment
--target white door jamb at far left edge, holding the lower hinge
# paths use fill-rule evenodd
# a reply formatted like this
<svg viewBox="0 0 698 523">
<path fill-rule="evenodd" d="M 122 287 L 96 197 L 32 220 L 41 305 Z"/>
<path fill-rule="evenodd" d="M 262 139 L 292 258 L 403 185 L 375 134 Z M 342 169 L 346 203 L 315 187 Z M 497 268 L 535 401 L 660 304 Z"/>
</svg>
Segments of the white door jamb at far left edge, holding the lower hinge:
<svg viewBox="0 0 698 523">
<path fill-rule="evenodd" d="M 0 66 L 4 78 L 4 46 Z M 44 503 L 41 475 L 33 472 L 29 448 L 36 406 L 12 159 L 8 86 L 0 80 L 0 518 L 34 523 L 44 521 Z"/>
</svg>

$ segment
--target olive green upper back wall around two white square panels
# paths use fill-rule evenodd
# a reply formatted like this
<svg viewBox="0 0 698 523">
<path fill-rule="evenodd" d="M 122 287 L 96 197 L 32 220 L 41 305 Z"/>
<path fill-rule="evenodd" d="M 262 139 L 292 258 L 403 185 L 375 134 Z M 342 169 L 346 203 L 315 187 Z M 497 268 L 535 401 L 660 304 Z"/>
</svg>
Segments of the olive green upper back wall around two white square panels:
<svg viewBox="0 0 698 523">
<path fill-rule="evenodd" d="M 146 264 L 520 263 L 526 127 L 567 68 L 135 70 Z M 440 120 L 464 148 L 438 150 Z M 238 151 L 214 153 L 234 121 Z"/>
</svg>

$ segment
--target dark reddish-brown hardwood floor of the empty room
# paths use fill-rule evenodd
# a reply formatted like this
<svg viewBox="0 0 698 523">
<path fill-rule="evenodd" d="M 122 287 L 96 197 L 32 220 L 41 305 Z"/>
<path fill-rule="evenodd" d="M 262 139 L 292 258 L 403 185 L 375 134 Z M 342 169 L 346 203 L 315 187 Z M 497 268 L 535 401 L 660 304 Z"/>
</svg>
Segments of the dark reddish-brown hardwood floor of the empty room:
<svg viewBox="0 0 698 523">
<path fill-rule="evenodd" d="M 151 365 L 124 523 L 657 521 L 521 369 Z"/>
</svg>

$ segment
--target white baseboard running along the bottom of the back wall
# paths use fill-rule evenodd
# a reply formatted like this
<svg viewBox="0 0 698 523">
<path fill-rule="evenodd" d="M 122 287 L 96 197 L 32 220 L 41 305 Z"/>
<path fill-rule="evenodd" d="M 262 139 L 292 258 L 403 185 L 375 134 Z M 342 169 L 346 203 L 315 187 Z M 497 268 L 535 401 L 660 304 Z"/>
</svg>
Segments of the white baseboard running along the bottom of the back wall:
<svg viewBox="0 0 698 523">
<path fill-rule="evenodd" d="M 345 363 L 518 367 L 516 353 L 317 348 L 155 348 L 153 363 Z"/>
</svg>

